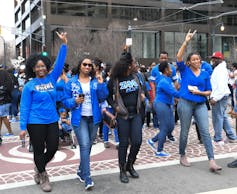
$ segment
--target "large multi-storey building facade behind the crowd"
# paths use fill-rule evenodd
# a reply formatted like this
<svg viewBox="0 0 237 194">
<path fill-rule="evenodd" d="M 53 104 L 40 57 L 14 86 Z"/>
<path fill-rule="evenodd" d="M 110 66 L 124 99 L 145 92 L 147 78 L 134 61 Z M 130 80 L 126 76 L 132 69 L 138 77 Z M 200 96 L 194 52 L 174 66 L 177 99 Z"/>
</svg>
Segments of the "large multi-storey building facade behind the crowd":
<svg viewBox="0 0 237 194">
<path fill-rule="evenodd" d="M 204 59 L 218 50 L 233 62 L 237 60 L 236 7 L 235 0 L 18 0 L 16 52 L 27 58 L 30 53 L 46 50 L 55 56 L 55 31 L 70 31 L 69 39 L 74 36 L 72 44 L 78 32 L 87 47 L 76 49 L 79 42 L 75 43 L 71 56 L 87 52 L 111 61 L 109 57 L 114 58 L 125 39 L 131 37 L 136 58 L 155 59 L 165 50 L 173 61 L 185 33 L 196 29 L 188 49 L 198 51 Z M 115 54 L 100 54 L 107 48 L 107 53 Z"/>
</svg>

